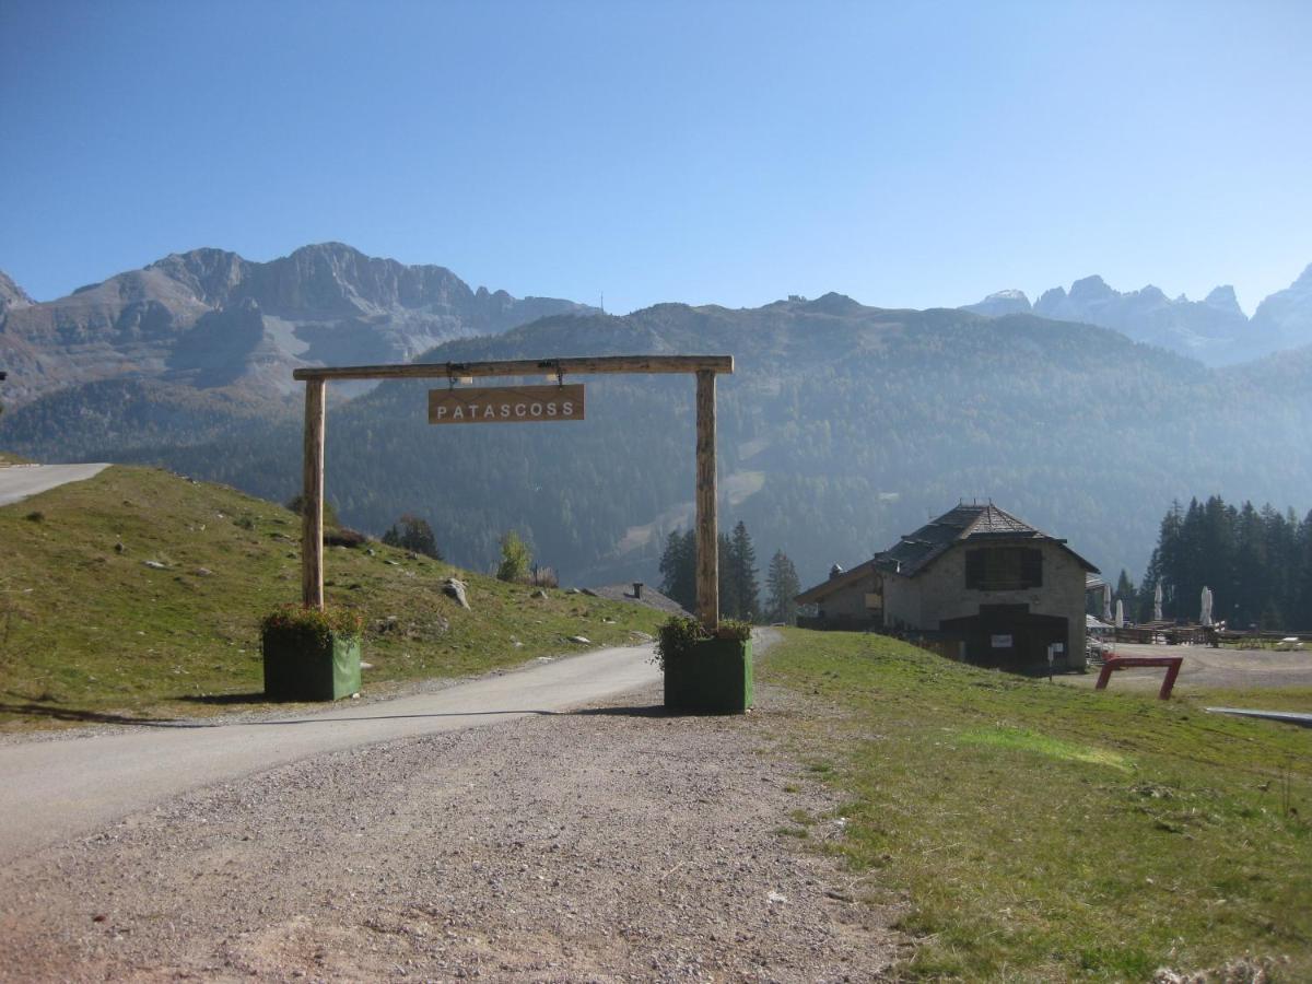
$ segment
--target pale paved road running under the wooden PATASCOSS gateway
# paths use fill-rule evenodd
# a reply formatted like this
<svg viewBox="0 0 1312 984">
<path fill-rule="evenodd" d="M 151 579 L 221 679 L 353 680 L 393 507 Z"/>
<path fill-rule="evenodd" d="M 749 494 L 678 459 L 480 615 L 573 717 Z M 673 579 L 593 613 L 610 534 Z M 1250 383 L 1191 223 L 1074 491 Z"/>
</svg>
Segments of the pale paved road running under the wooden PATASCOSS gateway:
<svg viewBox="0 0 1312 984">
<path fill-rule="evenodd" d="M 185 722 L 0 745 L 0 863 L 185 790 L 354 745 L 569 707 L 660 680 L 651 646 L 597 649 L 429 694 L 253 723 Z"/>
</svg>

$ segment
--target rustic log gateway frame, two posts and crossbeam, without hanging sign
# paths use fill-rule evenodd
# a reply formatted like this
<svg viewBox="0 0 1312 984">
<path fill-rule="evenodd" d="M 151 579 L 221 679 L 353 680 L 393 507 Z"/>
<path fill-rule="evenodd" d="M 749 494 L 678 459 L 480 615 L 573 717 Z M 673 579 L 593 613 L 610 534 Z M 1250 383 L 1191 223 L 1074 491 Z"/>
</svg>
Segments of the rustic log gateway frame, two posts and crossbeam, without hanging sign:
<svg viewBox="0 0 1312 984">
<path fill-rule="evenodd" d="M 697 615 L 714 630 L 720 618 L 719 530 L 715 516 L 715 377 L 733 371 L 732 356 L 596 356 L 499 362 L 409 362 L 394 366 L 307 366 L 300 586 L 306 607 L 324 606 L 324 433 L 329 379 L 457 379 L 462 377 L 690 373 L 697 377 Z"/>
</svg>

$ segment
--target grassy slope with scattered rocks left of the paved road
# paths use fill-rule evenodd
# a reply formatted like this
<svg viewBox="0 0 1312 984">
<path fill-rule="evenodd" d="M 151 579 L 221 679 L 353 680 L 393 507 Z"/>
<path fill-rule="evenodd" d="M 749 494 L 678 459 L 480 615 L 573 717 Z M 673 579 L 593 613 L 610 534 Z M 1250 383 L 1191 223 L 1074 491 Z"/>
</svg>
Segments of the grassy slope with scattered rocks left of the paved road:
<svg viewBox="0 0 1312 984">
<path fill-rule="evenodd" d="M 0 728 L 262 702 L 258 619 L 300 597 L 289 510 L 113 467 L 0 508 Z M 453 575 L 468 585 L 470 610 L 441 592 Z M 533 598 L 527 586 L 380 543 L 329 548 L 325 579 L 329 604 L 366 615 L 373 693 L 565 652 L 577 648 L 571 635 L 628 643 L 660 621 L 562 590 Z"/>
</svg>

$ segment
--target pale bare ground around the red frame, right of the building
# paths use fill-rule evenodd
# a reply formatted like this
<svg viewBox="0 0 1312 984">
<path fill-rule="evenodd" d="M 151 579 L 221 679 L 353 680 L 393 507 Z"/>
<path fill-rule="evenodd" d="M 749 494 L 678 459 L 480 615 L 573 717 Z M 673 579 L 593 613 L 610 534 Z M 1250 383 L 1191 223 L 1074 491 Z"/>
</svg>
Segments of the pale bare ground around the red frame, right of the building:
<svg viewBox="0 0 1312 984">
<path fill-rule="evenodd" d="M 1118 656 L 1183 656 L 1176 689 L 1246 689 L 1267 686 L 1312 687 L 1312 652 L 1275 652 L 1273 649 L 1212 649 L 1206 646 L 1132 646 L 1117 644 Z M 1117 670 L 1109 689 L 1156 690 L 1165 673 L 1160 668 Z M 1059 677 L 1063 684 L 1092 687 L 1096 672 Z M 1312 708 L 1309 708 L 1312 710 Z"/>
</svg>

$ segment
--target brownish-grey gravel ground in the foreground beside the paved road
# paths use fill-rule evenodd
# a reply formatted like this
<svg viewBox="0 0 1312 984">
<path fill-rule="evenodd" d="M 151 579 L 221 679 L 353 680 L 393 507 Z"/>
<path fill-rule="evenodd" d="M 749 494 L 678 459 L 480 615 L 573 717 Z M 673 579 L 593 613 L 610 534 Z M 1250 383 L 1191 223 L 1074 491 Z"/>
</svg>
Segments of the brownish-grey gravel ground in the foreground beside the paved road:
<svg viewBox="0 0 1312 984">
<path fill-rule="evenodd" d="M 800 699 L 648 689 L 189 792 L 0 874 L 0 980 L 880 979 L 908 941 L 816 849 Z"/>
</svg>

